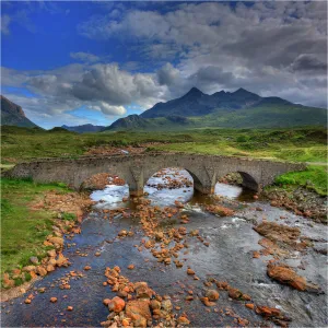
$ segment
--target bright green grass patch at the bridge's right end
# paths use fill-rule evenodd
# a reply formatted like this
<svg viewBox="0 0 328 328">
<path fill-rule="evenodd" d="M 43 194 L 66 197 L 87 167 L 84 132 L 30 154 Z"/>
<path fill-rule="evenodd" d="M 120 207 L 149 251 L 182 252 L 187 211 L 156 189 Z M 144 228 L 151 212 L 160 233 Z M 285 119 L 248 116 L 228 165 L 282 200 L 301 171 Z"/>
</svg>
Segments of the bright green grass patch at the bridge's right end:
<svg viewBox="0 0 328 328">
<path fill-rule="evenodd" d="M 327 167 L 309 166 L 303 172 L 290 172 L 276 178 L 277 185 L 282 187 L 304 186 L 321 196 L 328 195 Z"/>
</svg>

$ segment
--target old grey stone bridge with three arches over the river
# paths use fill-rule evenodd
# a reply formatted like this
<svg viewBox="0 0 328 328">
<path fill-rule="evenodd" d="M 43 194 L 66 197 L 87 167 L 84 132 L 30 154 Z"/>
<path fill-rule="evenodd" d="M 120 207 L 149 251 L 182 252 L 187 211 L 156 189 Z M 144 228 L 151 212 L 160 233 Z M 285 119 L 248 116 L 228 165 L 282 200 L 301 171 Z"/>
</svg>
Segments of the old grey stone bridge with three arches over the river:
<svg viewBox="0 0 328 328">
<path fill-rule="evenodd" d="M 143 153 L 112 156 L 82 156 L 79 159 L 39 159 L 20 163 L 5 176 L 32 178 L 39 183 L 62 181 L 80 189 L 89 177 L 110 173 L 125 179 L 131 196 L 141 196 L 148 179 L 162 168 L 185 168 L 194 178 L 194 187 L 202 194 L 212 194 L 218 179 L 227 173 L 238 172 L 243 186 L 260 191 L 273 183 L 274 177 L 292 171 L 302 171 L 305 164 L 272 162 L 232 156 Z"/>
</svg>

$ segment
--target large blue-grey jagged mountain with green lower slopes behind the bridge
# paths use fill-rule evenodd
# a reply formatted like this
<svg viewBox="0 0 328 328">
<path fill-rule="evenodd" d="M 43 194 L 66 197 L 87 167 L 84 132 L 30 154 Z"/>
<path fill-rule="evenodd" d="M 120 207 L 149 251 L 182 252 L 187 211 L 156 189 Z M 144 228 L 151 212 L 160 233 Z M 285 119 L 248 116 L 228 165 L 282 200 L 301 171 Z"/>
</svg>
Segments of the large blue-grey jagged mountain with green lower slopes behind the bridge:
<svg viewBox="0 0 328 328">
<path fill-rule="evenodd" d="M 130 115 L 106 130 L 172 130 L 183 128 L 286 128 L 326 126 L 327 109 L 261 97 L 245 89 L 207 95 L 192 87 L 184 96 L 159 103 L 140 116 Z"/>
</svg>

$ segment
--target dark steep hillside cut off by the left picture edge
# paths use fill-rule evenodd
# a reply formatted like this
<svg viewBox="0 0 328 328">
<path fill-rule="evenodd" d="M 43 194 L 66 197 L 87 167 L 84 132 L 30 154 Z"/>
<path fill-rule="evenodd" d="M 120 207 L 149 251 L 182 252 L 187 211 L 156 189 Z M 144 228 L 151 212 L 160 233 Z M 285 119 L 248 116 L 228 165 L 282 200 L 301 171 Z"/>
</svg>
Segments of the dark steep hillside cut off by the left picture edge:
<svg viewBox="0 0 328 328">
<path fill-rule="evenodd" d="M 26 116 L 21 106 L 1 95 L 1 126 L 16 126 L 25 128 L 37 127 Z"/>
</svg>

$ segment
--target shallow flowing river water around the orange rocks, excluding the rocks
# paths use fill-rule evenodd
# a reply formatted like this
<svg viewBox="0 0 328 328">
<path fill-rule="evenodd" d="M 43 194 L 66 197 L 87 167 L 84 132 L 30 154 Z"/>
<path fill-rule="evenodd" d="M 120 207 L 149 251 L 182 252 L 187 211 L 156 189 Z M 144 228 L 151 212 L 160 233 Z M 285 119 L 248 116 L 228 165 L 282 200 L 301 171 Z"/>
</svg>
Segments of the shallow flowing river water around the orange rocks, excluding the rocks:
<svg viewBox="0 0 328 328">
<path fill-rule="evenodd" d="M 180 174 L 191 178 L 187 172 Z M 166 176 L 175 175 L 175 171 L 166 171 Z M 152 186 L 163 183 L 163 177 L 152 177 L 149 180 L 149 185 Z M 215 194 L 226 197 L 227 202 L 234 201 L 239 204 L 236 214 L 229 218 L 219 218 L 203 211 L 202 204 L 211 203 L 212 200 L 198 194 L 194 195 L 192 187 L 157 190 L 145 186 L 144 191 L 149 194 L 148 198 L 152 200 L 152 204 L 164 207 L 173 206 L 175 200 L 185 202 L 184 211 L 190 219 L 185 226 L 188 231 L 199 230 L 210 246 L 207 247 L 196 238 L 188 237 L 188 251 L 179 257 L 186 261 L 181 269 L 177 269 L 174 265 L 164 266 L 157 262 L 149 250 L 139 251 L 133 247 L 139 245 L 143 237 L 137 221 L 122 215 L 117 215 L 113 222 L 103 219 L 99 212 L 102 209 L 122 206 L 136 208 L 132 201 L 122 202 L 122 198 L 128 196 L 128 186 L 107 186 L 104 190 L 91 195 L 91 198 L 98 202 L 94 211 L 83 220 L 81 234 L 67 239 L 70 247 L 67 247 L 63 254 L 69 257 L 72 265 L 69 268 L 57 269 L 36 282 L 35 289 L 46 288 L 46 292 L 37 294 L 32 304 L 24 304 L 25 295 L 2 305 L 2 326 L 98 327 L 108 315 L 108 309 L 102 301 L 115 295 L 108 286 L 103 286 L 103 281 L 106 280 L 104 270 L 114 266 L 119 266 L 121 274 L 128 277 L 130 281 L 147 281 L 155 292 L 169 295 L 174 306 L 181 307 L 177 313 L 185 312 L 194 327 L 236 327 L 234 317 L 226 315 L 227 312 L 234 312 L 248 319 L 250 326 L 258 326 L 262 321 L 262 317 L 245 307 L 245 302 L 230 300 L 226 292 L 220 291 L 218 304 L 211 307 L 210 312 L 206 312 L 208 308 L 199 300 L 185 301 L 190 289 L 195 295 L 201 296 L 204 291 L 203 281 L 210 277 L 227 281 L 230 285 L 249 294 L 255 304 L 280 308 L 292 318 L 291 327 L 327 326 L 325 294 L 298 292 L 273 282 L 266 273 L 267 261 L 272 257 L 253 258 L 253 251 L 261 249 L 258 245 L 261 236 L 253 230 L 255 221 L 259 223 L 263 218 L 268 221 L 283 218 L 279 223 L 298 226 L 302 235 L 317 241 L 315 242 L 317 247 L 327 245 L 326 226 L 309 223 L 302 216 L 273 208 L 267 202 L 254 201 L 253 192 L 236 186 L 218 184 L 215 187 Z M 175 225 L 179 226 L 177 223 Z M 134 235 L 117 239 L 116 236 L 122 229 L 131 229 Z M 77 250 L 80 250 L 80 255 L 87 254 L 87 256 L 80 256 Z M 94 256 L 96 251 L 101 251 L 99 257 Z M 127 269 L 131 263 L 136 266 L 134 270 Z M 304 254 L 294 251 L 288 263 L 294 268 L 303 263 L 304 270 L 297 272 L 326 289 L 327 256 L 308 248 Z M 85 265 L 90 265 L 92 269 L 83 271 Z M 186 274 L 187 265 L 196 271 L 199 281 Z M 60 290 L 59 278 L 72 270 L 82 271 L 84 277 L 71 279 L 71 290 Z M 55 304 L 49 303 L 52 296 L 58 297 Z M 74 309 L 67 312 L 68 305 Z"/>
</svg>

